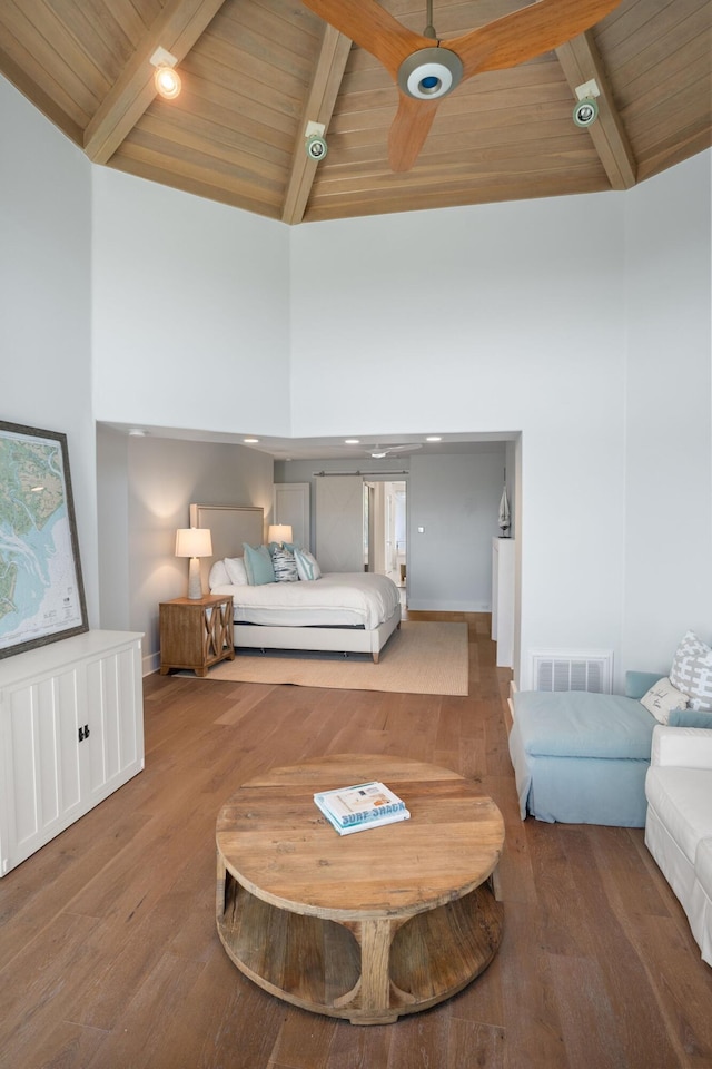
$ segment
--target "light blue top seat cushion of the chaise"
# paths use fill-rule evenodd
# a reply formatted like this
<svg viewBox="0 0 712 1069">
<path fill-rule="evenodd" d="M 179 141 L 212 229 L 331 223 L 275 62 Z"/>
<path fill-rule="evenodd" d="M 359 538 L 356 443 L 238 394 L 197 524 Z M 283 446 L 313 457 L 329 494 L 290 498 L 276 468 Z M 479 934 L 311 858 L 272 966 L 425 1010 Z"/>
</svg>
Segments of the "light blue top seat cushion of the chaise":
<svg viewBox="0 0 712 1069">
<path fill-rule="evenodd" d="M 533 756 L 650 761 L 656 720 L 635 698 L 582 690 L 521 690 L 514 718 Z"/>
</svg>

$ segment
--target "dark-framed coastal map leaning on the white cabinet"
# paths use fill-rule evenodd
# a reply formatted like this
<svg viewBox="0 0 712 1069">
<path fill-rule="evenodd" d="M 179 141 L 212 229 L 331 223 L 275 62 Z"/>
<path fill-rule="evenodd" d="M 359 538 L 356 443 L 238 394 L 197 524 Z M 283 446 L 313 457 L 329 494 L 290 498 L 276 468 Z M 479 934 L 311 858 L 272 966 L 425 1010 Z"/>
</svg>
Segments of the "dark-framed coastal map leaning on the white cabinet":
<svg viewBox="0 0 712 1069">
<path fill-rule="evenodd" d="M 0 421 L 0 657 L 86 630 L 67 435 Z"/>
</svg>

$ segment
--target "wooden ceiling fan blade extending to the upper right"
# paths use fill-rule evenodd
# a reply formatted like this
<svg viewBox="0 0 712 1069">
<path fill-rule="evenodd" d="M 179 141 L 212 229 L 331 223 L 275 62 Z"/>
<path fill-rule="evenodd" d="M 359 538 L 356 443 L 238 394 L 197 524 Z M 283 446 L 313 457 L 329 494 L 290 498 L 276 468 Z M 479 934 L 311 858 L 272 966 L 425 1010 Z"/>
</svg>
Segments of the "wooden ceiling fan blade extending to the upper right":
<svg viewBox="0 0 712 1069">
<path fill-rule="evenodd" d="M 463 37 L 443 41 L 465 68 L 463 80 L 504 70 L 558 48 L 617 8 L 621 0 L 537 0 Z"/>
</svg>

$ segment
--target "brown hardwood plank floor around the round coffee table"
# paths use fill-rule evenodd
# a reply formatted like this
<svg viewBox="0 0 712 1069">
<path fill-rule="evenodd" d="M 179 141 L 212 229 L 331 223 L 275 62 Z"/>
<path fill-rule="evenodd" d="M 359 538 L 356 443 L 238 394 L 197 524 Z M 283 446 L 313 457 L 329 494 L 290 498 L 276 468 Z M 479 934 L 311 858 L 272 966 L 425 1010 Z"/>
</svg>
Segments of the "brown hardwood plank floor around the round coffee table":
<svg viewBox="0 0 712 1069">
<path fill-rule="evenodd" d="M 145 772 L 0 881 L 0 1067 L 711 1069 L 712 970 L 642 830 L 520 821 L 510 673 L 488 616 L 466 619 L 468 697 L 147 678 Z M 494 962 L 390 1026 L 273 998 L 216 933 L 222 802 L 347 752 L 471 776 L 506 825 Z"/>
</svg>

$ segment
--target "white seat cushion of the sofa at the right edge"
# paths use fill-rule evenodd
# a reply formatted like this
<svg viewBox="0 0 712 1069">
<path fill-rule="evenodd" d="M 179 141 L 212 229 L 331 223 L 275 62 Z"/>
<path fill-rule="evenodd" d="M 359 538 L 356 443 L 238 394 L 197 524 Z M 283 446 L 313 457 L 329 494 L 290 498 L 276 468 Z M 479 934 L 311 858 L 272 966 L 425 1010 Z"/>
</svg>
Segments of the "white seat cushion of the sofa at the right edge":
<svg viewBox="0 0 712 1069">
<path fill-rule="evenodd" d="M 712 838 L 712 772 L 651 765 L 645 778 L 649 805 L 694 865 L 698 843 Z"/>
</svg>

